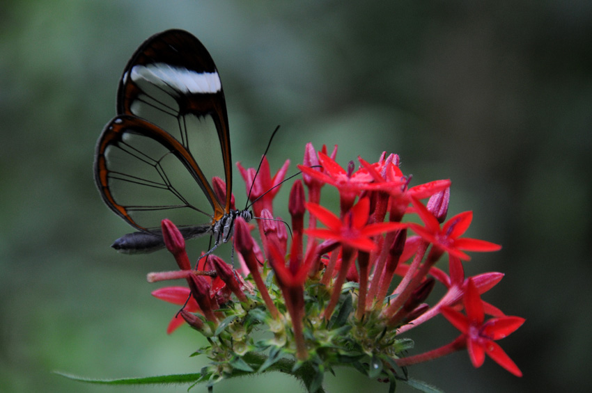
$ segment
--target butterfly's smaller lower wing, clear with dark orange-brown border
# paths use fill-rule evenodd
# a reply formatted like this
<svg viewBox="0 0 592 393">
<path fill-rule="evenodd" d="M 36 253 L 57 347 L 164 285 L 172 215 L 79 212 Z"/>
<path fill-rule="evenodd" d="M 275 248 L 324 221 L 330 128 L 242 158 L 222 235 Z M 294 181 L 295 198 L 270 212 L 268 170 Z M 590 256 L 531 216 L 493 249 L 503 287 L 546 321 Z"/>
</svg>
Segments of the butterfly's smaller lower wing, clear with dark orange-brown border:
<svg viewBox="0 0 592 393">
<path fill-rule="evenodd" d="M 139 229 L 209 224 L 212 204 L 193 157 L 162 129 L 127 115 L 109 122 L 100 138 L 98 165 L 104 200 Z"/>
</svg>

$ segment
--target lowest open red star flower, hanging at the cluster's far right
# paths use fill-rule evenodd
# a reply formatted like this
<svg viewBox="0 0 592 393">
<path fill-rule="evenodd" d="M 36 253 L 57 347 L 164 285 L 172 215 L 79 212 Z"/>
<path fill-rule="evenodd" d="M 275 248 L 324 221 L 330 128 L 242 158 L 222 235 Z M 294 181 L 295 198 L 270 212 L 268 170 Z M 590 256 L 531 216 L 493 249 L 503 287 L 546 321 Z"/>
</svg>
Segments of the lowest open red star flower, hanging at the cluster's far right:
<svg viewBox="0 0 592 393">
<path fill-rule="evenodd" d="M 504 316 L 483 323 L 485 320 L 483 303 L 481 303 L 481 296 L 479 296 L 472 279 L 469 279 L 467 283 L 463 301 L 467 311 L 466 316 L 452 307 L 442 307 L 441 312 L 455 328 L 462 332 L 474 367 L 481 367 L 485 362 L 485 354 L 487 354 L 515 376 L 522 376 L 522 371 L 494 340 L 503 339 L 520 328 L 525 321 L 524 318 Z"/>
</svg>

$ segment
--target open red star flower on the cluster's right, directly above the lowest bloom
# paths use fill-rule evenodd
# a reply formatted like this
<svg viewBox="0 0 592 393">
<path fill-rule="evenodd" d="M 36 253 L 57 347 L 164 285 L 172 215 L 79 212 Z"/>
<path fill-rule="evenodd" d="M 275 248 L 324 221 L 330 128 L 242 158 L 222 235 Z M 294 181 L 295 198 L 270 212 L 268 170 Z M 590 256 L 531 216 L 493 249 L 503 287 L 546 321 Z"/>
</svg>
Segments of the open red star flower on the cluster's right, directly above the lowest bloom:
<svg viewBox="0 0 592 393">
<path fill-rule="evenodd" d="M 450 255 L 467 261 L 471 259 L 471 257 L 461 250 L 497 251 L 501 248 L 501 246 L 489 241 L 460 237 L 467 231 L 469 225 L 471 225 L 473 219 L 472 211 L 464 211 L 457 214 L 450 220 L 446 221 L 441 228 L 437 218 L 431 214 L 430 211 L 419 202 L 419 200 L 416 200 L 416 198 L 411 199 L 417 214 L 419 214 L 419 217 L 423 220 L 423 223 L 426 226 L 422 227 L 415 223 L 408 223 L 407 225 L 414 230 L 416 234 L 419 234 L 423 240 L 432 243 L 435 247 L 448 252 Z"/>
</svg>

